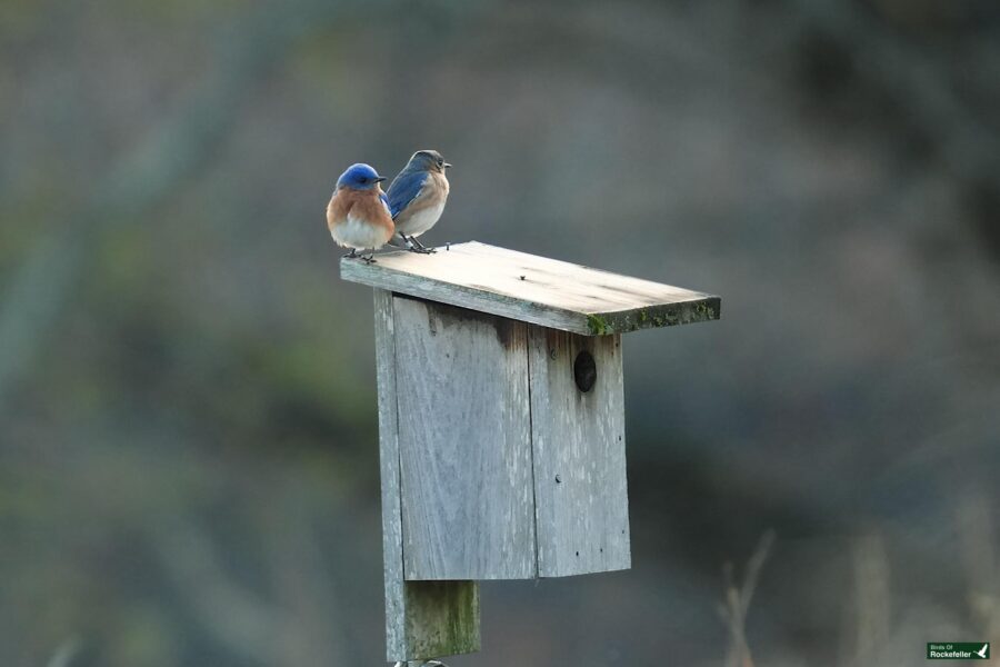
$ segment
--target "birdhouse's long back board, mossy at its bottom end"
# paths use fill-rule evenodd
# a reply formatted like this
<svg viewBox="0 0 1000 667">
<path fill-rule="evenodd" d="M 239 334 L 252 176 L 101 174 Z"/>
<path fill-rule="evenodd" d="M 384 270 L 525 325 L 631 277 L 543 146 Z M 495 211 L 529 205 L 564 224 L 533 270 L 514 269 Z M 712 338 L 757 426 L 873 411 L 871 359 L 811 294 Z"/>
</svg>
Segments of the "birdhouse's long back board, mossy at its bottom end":
<svg viewBox="0 0 1000 667">
<path fill-rule="evenodd" d="M 403 580 L 399 412 L 392 295 L 374 290 L 379 385 L 379 461 L 382 479 L 382 557 L 386 577 L 386 656 L 423 660 L 479 650 L 479 587 Z"/>
</svg>

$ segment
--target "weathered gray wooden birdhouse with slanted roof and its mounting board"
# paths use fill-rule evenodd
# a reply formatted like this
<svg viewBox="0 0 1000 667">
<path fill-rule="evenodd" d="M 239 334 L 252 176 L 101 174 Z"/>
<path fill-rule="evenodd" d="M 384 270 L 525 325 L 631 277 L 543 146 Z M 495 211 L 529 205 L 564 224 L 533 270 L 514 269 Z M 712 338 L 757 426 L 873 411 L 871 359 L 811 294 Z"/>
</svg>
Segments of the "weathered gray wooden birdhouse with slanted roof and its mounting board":
<svg viewBox="0 0 1000 667">
<path fill-rule="evenodd" d="M 719 297 L 469 242 L 376 263 L 389 660 L 479 649 L 483 579 L 630 567 L 621 335 Z"/>
</svg>

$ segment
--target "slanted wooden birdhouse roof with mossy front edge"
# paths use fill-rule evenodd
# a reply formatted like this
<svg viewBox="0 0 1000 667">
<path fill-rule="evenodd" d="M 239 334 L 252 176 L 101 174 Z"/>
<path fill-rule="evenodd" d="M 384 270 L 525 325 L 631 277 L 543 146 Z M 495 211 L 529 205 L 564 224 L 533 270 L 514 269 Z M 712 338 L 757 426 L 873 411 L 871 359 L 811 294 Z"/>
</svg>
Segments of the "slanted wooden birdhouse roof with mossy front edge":
<svg viewBox="0 0 1000 667">
<path fill-rule="evenodd" d="M 720 308 L 712 295 L 476 241 L 434 255 L 388 252 L 373 265 L 344 258 L 340 276 L 584 336 L 719 319 Z"/>
</svg>

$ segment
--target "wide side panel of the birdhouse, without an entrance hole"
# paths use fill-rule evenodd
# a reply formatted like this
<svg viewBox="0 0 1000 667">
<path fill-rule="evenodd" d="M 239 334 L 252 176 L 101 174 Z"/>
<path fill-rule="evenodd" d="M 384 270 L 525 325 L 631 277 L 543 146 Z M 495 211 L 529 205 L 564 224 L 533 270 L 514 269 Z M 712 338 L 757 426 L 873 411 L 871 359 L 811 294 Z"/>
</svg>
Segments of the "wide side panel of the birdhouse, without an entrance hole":
<svg viewBox="0 0 1000 667">
<path fill-rule="evenodd" d="M 527 326 L 393 298 L 406 578 L 537 574 Z"/>
</svg>

